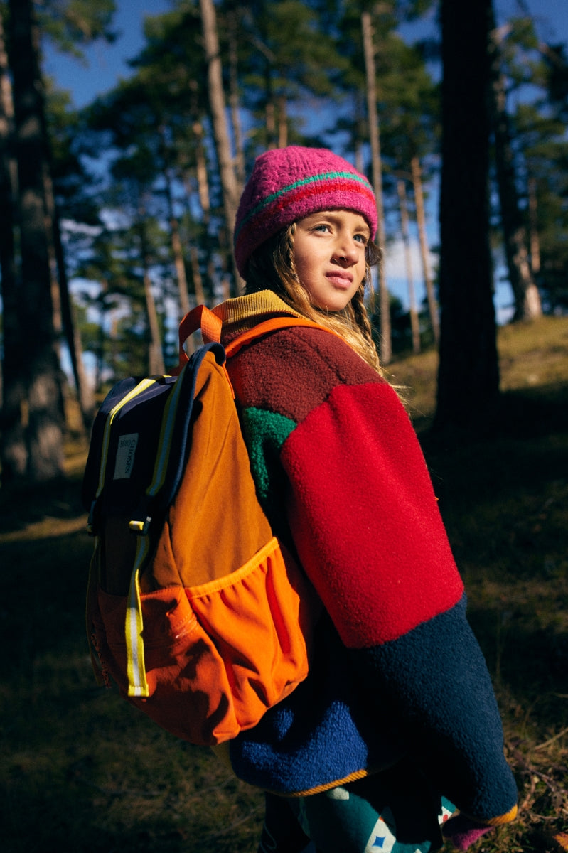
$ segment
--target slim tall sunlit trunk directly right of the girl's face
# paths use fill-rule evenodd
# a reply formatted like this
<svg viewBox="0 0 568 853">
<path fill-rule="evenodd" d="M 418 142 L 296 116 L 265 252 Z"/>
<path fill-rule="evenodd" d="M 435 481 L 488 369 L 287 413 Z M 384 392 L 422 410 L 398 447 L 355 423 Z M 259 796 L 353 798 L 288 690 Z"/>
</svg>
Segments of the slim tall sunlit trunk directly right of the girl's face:
<svg viewBox="0 0 568 853">
<path fill-rule="evenodd" d="M 361 15 L 363 53 L 365 55 L 365 74 L 367 78 L 367 117 L 368 133 L 371 143 L 371 170 L 373 173 L 374 194 L 377 200 L 377 242 L 385 249 L 385 217 L 383 212 L 383 179 L 380 160 L 379 116 L 377 115 L 376 70 L 374 62 L 373 27 L 371 15 Z M 371 294 L 373 298 L 373 293 Z M 379 264 L 379 307 L 380 307 L 380 361 L 388 364 L 392 357 L 391 342 L 391 300 L 385 278 L 385 264 Z"/>
</svg>

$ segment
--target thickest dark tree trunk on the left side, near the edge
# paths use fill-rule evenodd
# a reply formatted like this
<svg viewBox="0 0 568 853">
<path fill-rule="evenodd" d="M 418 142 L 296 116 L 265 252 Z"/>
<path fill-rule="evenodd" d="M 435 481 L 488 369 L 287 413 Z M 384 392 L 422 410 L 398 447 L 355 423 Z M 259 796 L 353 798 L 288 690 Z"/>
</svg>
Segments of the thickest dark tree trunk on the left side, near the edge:
<svg viewBox="0 0 568 853">
<path fill-rule="evenodd" d="M 43 170 L 48 158 L 32 0 L 9 0 L 9 12 L 20 211 L 20 302 L 26 307 L 28 343 L 20 365 L 26 381 L 26 479 L 38 482 L 63 473 L 61 371 L 55 354 L 43 198 Z"/>
</svg>

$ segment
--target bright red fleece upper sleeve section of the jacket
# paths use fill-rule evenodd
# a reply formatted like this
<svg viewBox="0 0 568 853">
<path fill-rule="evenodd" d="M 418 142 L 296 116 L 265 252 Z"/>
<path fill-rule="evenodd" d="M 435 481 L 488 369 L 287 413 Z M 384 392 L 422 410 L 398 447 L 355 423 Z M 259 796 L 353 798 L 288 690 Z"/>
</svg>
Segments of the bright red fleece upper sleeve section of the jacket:
<svg viewBox="0 0 568 853">
<path fill-rule="evenodd" d="M 460 600 L 426 462 L 390 386 L 336 386 L 281 461 L 299 558 L 346 646 L 397 639 Z"/>
</svg>

